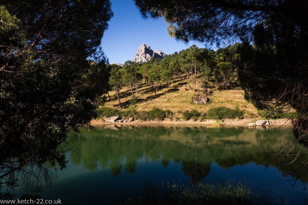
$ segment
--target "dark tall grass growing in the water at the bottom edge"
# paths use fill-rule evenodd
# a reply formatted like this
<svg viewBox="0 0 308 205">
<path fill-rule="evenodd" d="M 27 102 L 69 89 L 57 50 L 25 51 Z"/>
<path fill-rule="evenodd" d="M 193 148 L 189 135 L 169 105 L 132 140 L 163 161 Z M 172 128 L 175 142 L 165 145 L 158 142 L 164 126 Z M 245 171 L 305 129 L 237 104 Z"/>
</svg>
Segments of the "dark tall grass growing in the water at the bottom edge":
<svg viewBox="0 0 308 205">
<path fill-rule="evenodd" d="M 276 204 L 269 195 L 252 191 L 243 183 L 217 182 L 185 185 L 184 183 L 165 183 L 157 187 L 144 182 L 134 197 L 127 199 L 127 205 L 141 204 Z"/>
</svg>

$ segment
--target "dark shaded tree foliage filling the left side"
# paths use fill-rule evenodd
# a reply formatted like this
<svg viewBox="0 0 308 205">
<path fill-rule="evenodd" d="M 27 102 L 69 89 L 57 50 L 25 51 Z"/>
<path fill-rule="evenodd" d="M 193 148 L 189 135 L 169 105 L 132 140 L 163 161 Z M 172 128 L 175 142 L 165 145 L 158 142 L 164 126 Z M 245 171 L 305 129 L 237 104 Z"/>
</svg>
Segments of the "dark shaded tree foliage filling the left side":
<svg viewBox="0 0 308 205">
<path fill-rule="evenodd" d="M 112 16 L 109 0 L 1 1 L 0 178 L 65 167 L 57 147 L 89 125 L 108 81 L 99 45 Z"/>
</svg>

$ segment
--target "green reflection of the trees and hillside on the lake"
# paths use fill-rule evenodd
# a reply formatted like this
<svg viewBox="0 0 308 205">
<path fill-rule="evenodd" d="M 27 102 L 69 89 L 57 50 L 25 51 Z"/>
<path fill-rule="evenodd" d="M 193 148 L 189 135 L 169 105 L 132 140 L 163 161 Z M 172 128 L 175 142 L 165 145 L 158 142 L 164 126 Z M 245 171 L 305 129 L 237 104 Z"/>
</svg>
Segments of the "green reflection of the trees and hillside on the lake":
<svg viewBox="0 0 308 205">
<path fill-rule="evenodd" d="M 142 158 L 145 163 L 149 159 L 160 161 L 163 167 L 173 161 L 193 183 L 209 175 L 213 162 L 225 169 L 255 163 L 274 166 L 282 175 L 306 183 L 307 169 L 302 169 L 302 161 L 308 159 L 307 152 L 288 166 L 282 164 L 291 158 L 281 161 L 280 156 L 273 155 L 294 139 L 289 133 L 288 128 L 97 127 L 89 132 L 80 130 L 79 141 L 71 142 L 74 150 L 70 160 L 89 171 L 109 167 L 115 177 L 123 167 L 134 173 Z M 293 152 L 302 148 L 297 144 Z"/>
</svg>

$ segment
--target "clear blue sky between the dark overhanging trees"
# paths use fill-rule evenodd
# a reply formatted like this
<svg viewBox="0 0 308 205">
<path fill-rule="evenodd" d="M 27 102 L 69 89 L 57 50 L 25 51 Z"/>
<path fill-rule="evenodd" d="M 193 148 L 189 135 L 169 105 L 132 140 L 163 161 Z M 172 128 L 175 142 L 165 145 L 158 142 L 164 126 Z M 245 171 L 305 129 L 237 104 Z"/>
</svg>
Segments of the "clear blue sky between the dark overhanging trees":
<svg viewBox="0 0 308 205">
<path fill-rule="evenodd" d="M 101 46 L 109 58 L 110 63 L 124 63 L 134 60 L 139 46 L 148 44 L 152 50 L 161 50 L 172 54 L 175 51 L 189 48 L 198 42 L 177 42 L 167 32 L 167 24 L 164 19 L 144 19 L 137 10 L 133 0 L 111 0 L 111 10 L 114 17 L 111 18 L 109 28 L 104 32 Z"/>
</svg>

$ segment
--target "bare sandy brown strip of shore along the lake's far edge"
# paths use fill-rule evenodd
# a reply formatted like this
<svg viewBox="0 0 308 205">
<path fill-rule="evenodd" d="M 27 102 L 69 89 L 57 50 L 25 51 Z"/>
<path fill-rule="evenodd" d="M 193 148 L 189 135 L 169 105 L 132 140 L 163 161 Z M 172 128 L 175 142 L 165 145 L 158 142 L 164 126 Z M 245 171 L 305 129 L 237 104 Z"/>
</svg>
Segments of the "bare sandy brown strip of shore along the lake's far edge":
<svg viewBox="0 0 308 205">
<path fill-rule="evenodd" d="M 253 120 L 253 118 L 250 119 L 225 119 L 225 120 L 204 120 L 204 121 L 193 121 L 193 120 L 181 120 L 181 121 L 175 121 L 175 120 L 134 120 L 132 122 L 118 122 L 117 120 L 115 122 L 107 122 L 103 119 L 93 119 L 91 120 L 92 126 L 102 126 L 102 125 L 194 125 L 194 126 L 212 126 L 212 127 L 243 127 L 247 126 L 248 123 L 250 123 Z M 268 127 L 286 127 L 286 126 L 292 126 L 292 120 L 289 119 L 277 119 L 274 120 L 275 124 L 270 125 L 262 125 L 262 126 L 268 126 Z M 260 126 L 256 126 L 260 127 Z"/>
</svg>

